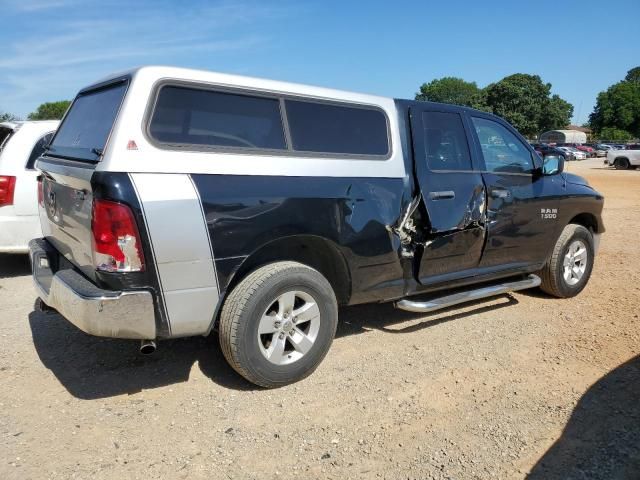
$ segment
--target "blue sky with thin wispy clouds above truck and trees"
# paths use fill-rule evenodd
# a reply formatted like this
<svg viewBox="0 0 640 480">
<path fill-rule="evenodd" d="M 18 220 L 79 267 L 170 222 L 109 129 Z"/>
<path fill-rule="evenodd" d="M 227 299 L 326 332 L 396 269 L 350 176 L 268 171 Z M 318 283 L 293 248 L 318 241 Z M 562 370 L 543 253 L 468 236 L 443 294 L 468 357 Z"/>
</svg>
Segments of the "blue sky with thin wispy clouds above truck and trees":
<svg viewBox="0 0 640 480">
<path fill-rule="evenodd" d="M 640 65 L 640 1 L 0 0 L 0 111 L 165 64 L 412 98 L 458 76 L 538 74 L 586 121 Z"/>
</svg>

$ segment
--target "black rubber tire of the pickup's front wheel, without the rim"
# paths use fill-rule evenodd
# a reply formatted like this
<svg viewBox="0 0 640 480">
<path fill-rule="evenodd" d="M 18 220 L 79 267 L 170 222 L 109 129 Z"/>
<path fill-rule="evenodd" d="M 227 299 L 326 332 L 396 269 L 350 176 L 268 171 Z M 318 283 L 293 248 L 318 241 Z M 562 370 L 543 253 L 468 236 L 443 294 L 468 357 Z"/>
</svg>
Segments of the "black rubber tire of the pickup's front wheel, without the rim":
<svg viewBox="0 0 640 480">
<path fill-rule="evenodd" d="M 587 249 L 586 268 L 582 277 L 575 285 L 570 285 L 564 278 L 564 258 L 569 247 L 575 240 L 581 240 Z M 589 281 L 593 270 L 594 247 L 593 235 L 582 225 L 569 224 L 564 227 L 547 264 L 538 275 L 542 280 L 540 288 L 558 298 L 571 298 L 578 295 Z"/>
</svg>

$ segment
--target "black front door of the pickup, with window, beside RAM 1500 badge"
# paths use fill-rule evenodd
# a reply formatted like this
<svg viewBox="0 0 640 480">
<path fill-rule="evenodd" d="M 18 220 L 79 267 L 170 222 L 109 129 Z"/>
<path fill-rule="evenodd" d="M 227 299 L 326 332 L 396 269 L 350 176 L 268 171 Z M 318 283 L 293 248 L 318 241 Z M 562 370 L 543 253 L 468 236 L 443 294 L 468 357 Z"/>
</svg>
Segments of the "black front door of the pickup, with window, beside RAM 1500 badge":
<svg viewBox="0 0 640 480">
<path fill-rule="evenodd" d="M 556 230 L 557 222 L 549 220 L 558 206 L 553 179 L 536 174 L 539 158 L 515 130 L 482 115 L 470 119 L 488 194 L 487 244 L 480 267 L 540 263 Z"/>
</svg>

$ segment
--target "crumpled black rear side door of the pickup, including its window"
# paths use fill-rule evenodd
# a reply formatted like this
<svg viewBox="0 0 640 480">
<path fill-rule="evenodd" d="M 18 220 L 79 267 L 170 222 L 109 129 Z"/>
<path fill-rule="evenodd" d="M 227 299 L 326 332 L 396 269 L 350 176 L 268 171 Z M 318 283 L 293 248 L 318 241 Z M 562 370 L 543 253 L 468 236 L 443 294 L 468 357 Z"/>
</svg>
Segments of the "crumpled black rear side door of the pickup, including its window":
<svg viewBox="0 0 640 480">
<path fill-rule="evenodd" d="M 429 217 L 417 257 L 418 281 L 471 275 L 482 255 L 486 205 L 482 175 L 472 162 L 471 130 L 456 107 L 413 106 L 410 117 L 416 176 Z"/>
</svg>

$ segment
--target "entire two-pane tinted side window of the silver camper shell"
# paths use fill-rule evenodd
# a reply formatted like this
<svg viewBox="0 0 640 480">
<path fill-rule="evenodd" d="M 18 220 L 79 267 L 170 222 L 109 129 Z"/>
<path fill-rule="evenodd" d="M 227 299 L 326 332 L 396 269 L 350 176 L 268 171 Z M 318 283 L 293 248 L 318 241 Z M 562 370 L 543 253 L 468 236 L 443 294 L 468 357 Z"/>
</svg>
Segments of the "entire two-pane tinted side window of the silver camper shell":
<svg viewBox="0 0 640 480">
<path fill-rule="evenodd" d="M 171 83 L 157 89 L 147 135 L 196 151 L 383 160 L 391 151 L 379 107 Z"/>
</svg>

